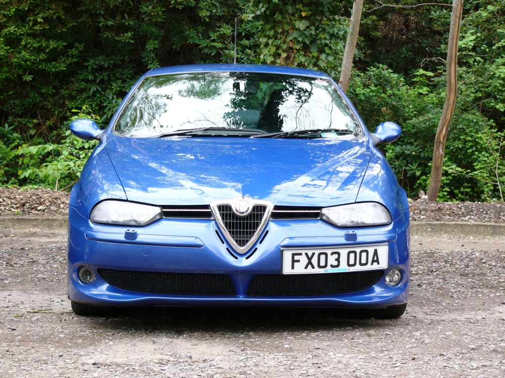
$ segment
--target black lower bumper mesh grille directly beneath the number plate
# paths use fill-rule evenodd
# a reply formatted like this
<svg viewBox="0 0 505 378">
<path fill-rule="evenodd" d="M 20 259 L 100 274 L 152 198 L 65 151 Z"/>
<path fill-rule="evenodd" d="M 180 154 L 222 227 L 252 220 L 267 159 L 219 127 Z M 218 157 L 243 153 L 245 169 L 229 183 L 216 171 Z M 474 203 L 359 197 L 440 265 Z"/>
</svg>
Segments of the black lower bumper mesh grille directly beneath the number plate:
<svg viewBox="0 0 505 378">
<path fill-rule="evenodd" d="M 252 280 L 247 295 L 315 296 L 352 293 L 364 290 L 379 281 L 383 271 L 321 274 L 264 274 Z"/>
</svg>

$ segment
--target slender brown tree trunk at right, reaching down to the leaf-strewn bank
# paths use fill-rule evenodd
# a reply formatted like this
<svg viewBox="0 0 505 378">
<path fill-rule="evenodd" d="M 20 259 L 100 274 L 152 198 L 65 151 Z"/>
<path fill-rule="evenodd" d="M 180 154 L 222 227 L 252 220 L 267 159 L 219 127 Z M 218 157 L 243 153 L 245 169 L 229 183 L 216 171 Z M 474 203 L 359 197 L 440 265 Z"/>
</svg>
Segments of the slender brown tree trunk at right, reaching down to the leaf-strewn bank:
<svg viewBox="0 0 505 378">
<path fill-rule="evenodd" d="M 438 122 L 433 147 L 433 160 L 431 165 L 430 185 L 428 187 L 428 201 L 436 201 L 442 180 L 442 167 L 445 151 L 445 140 L 449 132 L 450 120 L 456 105 L 458 89 L 458 40 L 460 38 L 461 17 L 463 14 L 463 0 L 452 0 L 450 15 L 449 42 L 447 47 L 447 86 L 445 90 L 445 103 L 442 116 Z"/>
</svg>

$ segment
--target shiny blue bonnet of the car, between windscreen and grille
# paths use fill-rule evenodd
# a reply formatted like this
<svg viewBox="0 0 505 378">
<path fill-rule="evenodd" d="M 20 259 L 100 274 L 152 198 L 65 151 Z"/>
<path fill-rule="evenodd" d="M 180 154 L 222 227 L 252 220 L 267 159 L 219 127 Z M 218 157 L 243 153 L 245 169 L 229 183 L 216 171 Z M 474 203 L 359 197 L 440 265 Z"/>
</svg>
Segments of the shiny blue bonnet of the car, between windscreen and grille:
<svg viewBox="0 0 505 378">
<path fill-rule="evenodd" d="M 126 196 L 204 205 L 240 196 L 285 206 L 355 202 L 370 159 L 361 140 L 124 138 L 107 143 Z"/>
</svg>

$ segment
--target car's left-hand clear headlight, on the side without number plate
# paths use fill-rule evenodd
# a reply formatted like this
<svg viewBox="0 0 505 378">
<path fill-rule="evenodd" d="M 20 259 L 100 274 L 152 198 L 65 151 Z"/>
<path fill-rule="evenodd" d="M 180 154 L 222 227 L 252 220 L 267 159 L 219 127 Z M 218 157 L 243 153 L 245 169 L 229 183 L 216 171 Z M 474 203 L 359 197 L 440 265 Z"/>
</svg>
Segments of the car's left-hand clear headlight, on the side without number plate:
<svg viewBox="0 0 505 378">
<path fill-rule="evenodd" d="M 107 200 L 93 208 L 89 220 L 95 223 L 144 226 L 161 216 L 161 208 L 158 206 Z"/>
</svg>

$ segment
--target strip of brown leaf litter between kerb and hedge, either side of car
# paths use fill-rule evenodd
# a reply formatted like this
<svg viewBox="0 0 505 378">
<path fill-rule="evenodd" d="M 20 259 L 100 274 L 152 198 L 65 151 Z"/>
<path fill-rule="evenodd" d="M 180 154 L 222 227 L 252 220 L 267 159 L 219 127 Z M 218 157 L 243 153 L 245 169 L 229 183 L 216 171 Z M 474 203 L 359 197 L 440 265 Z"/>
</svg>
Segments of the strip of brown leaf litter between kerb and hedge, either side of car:
<svg viewBox="0 0 505 378">
<path fill-rule="evenodd" d="M 0 187 L 0 215 L 55 216 L 68 214 L 69 194 L 47 188 Z M 505 223 L 505 203 L 410 201 L 411 220 Z"/>
</svg>

